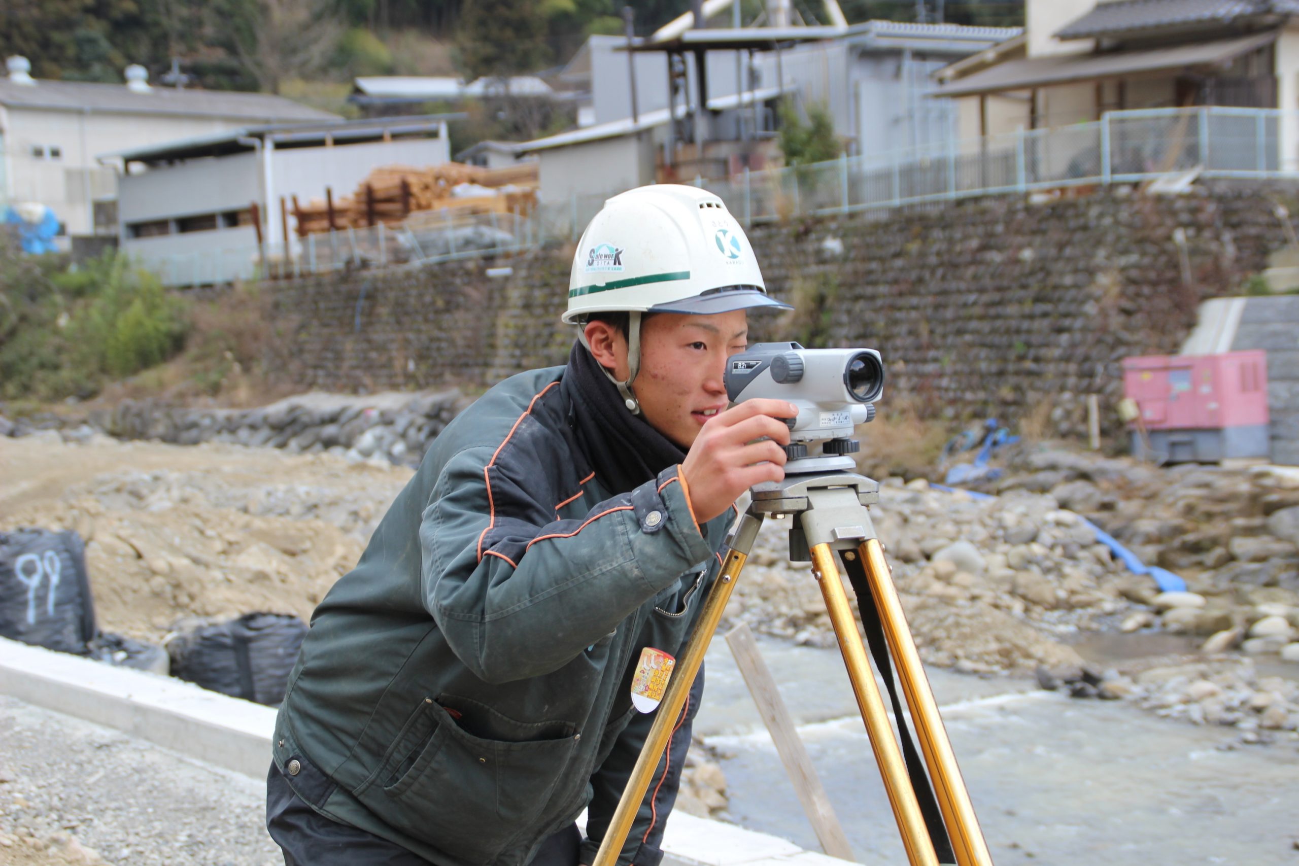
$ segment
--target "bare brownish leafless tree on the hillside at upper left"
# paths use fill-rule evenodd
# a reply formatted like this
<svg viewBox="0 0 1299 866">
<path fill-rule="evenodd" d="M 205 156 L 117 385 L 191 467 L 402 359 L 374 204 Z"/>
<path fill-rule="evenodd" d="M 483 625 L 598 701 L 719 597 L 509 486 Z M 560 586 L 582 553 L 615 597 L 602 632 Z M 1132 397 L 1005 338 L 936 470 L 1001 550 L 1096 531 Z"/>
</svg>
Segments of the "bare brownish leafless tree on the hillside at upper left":
<svg viewBox="0 0 1299 866">
<path fill-rule="evenodd" d="M 342 21 L 334 0 L 243 0 L 235 52 L 261 90 L 278 93 L 290 78 L 312 75 L 334 56 Z"/>
</svg>

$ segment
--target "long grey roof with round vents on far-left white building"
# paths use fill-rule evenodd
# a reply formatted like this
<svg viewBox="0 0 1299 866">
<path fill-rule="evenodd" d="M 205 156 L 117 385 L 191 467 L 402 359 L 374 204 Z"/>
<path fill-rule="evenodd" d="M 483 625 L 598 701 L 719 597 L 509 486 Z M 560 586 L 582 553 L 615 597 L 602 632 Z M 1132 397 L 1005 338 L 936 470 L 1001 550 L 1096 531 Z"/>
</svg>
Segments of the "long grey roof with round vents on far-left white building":
<svg viewBox="0 0 1299 866">
<path fill-rule="evenodd" d="M 16 84 L 0 78 L 0 105 L 109 114 L 229 117 L 262 122 L 338 119 L 336 114 L 268 93 L 174 87 L 153 87 L 140 92 L 129 90 L 126 84 L 48 79 L 38 79 L 35 84 Z"/>
</svg>

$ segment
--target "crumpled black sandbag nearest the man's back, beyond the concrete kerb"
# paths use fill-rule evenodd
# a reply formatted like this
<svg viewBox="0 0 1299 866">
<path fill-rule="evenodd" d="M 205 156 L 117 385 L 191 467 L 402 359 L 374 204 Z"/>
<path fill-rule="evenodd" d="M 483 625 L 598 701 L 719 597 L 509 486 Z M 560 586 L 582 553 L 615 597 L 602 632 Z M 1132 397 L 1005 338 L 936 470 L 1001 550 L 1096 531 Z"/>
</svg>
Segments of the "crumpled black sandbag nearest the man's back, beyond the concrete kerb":
<svg viewBox="0 0 1299 866">
<path fill-rule="evenodd" d="M 249 613 L 200 626 L 166 643 L 171 675 L 231 697 L 274 705 L 284 700 L 288 673 L 307 623 L 277 613 Z"/>
</svg>

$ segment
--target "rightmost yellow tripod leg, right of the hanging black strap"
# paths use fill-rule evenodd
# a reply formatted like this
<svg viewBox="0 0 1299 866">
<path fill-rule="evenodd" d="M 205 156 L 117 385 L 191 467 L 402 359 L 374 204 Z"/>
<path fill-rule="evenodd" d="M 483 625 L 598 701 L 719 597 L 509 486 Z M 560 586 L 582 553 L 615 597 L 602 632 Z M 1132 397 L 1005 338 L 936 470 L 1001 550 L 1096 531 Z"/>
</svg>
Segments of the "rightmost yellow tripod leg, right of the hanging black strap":
<svg viewBox="0 0 1299 866">
<path fill-rule="evenodd" d="M 965 780 L 961 778 L 960 767 L 956 766 L 956 754 L 947 739 L 947 728 L 943 727 L 943 719 L 938 713 L 938 702 L 934 701 L 934 692 L 929 687 L 929 678 L 920 663 L 920 653 L 916 652 L 916 641 L 911 636 L 902 602 L 898 600 L 883 548 L 878 539 L 869 539 L 857 547 L 857 554 L 861 556 L 870 593 L 879 609 L 885 639 L 889 641 L 889 654 L 898 666 L 898 679 L 902 680 L 903 693 L 907 696 L 907 706 L 911 709 L 920 748 L 925 754 L 925 766 L 929 767 L 938 808 L 943 813 L 943 823 L 947 824 L 947 834 L 952 840 L 956 862 L 959 866 L 992 866 L 992 857 L 974 815 Z M 851 560 L 853 552 L 847 551 L 843 556 Z M 835 630 L 838 631 L 838 627 Z"/>
</svg>

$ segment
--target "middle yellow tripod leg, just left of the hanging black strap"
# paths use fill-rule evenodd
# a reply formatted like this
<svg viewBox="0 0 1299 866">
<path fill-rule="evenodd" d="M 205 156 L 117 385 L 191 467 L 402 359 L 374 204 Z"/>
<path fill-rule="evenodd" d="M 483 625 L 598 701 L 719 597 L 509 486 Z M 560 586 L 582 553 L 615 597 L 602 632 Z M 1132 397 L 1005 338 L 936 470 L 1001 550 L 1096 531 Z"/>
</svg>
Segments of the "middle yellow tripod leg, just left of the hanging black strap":
<svg viewBox="0 0 1299 866">
<path fill-rule="evenodd" d="M 830 612 L 834 635 L 839 639 L 839 650 L 848 669 L 848 679 L 852 680 L 852 693 L 857 699 L 861 721 L 866 723 L 866 734 L 870 735 L 870 748 L 876 753 L 879 775 L 883 776 L 885 791 L 889 793 L 889 804 L 898 821 L 898 831 L 907 849 L 907 861 L 912 866 L 938 866 L 934 843 L 920 813 L 920 802 L 911 787 L 902 749 L 894 737 L 885 701 L 879 696 L 879 687 L 866 658 L 866 648 L 861 645 L 861 635 L 857 634 L 857 619 L 848 606 L 839 566 L 829 544 L 817 544 L 812 548 L 812 567 L 821 586 L 826 610 Z"/>
</svg>

